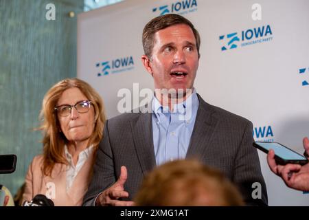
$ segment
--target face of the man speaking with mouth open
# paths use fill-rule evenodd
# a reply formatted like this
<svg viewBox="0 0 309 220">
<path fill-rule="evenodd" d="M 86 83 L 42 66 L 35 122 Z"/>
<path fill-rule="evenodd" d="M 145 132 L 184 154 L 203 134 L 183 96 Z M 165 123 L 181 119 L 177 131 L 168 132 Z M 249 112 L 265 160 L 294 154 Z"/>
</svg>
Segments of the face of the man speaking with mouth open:
<svg viewBox="0 0 309 220">
<path fill-rule="evenodd" d="M 152 57 L 142 56 L 155 89 L 192 89 L 198 69 L 198 51 L 188 25 L 172 25 L 155 33 Z"/>
</svg>

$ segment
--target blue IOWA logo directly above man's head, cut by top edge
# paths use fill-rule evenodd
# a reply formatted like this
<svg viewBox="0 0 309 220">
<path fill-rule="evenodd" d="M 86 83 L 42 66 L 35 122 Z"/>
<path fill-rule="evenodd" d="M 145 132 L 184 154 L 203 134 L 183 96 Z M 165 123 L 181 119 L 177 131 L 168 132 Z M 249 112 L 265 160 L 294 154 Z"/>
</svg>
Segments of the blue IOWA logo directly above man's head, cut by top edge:
<svg viewBox="0 0 309 220">
<path fill-rule="evenodd" d="M 152 8 L 152 12 L 159 12 L 159 15 L 175 13 L 187 14 L 197 10 L 196 0 L 182 0 L 171 3 L 170 5 L 161 5 L 157 8 Z"/>
</svg>

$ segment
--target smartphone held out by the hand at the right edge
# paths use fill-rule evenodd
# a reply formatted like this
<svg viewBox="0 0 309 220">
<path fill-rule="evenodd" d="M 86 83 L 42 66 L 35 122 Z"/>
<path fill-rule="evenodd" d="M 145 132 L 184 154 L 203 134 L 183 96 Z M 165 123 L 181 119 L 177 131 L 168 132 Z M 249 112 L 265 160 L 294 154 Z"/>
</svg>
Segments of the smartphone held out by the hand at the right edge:
<svg viewBox="0 0 309 220">
<path fill-rule="evenodd" d="M 277 164 L 307 164 L 308 159 L 303 155 L 277 142 L 253 142 L 253 146 L 261 151 L 268 153 L 270 149 L 275 151 L 275 160 Z"/>
</svg>

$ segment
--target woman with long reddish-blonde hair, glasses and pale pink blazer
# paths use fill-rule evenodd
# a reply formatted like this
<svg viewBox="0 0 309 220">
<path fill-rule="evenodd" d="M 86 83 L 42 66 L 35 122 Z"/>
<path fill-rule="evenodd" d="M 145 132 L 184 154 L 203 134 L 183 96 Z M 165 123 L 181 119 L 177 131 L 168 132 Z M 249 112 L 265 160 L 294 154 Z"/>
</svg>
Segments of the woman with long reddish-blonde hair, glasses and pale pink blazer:
<svg viewBox="0 0 309 220">
<path fill-rule="evenodd" d="M 40 118 L 43 154 L 27 171 L 23 202 L 42 194 L 55 206 L 81 206 L 104 129 L 102 99 L 88 83 L 67 78 L 47 91 Z"/>
</svg>

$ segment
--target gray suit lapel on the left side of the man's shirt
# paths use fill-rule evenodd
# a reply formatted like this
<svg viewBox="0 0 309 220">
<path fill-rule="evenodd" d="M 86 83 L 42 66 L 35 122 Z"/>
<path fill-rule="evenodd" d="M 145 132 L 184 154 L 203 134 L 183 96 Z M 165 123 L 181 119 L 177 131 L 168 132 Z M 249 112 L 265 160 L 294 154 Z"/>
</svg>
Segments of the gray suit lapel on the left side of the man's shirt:
<svg viewBox="0 0 309 220">
<path fill-rule="evenodd" d="M 131 121 L 131 127 L 139 164 L 145 175 L 156 166 L 152 137 L 152 113 L 139 113 L 137 120 Z"/>
</svg>

